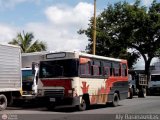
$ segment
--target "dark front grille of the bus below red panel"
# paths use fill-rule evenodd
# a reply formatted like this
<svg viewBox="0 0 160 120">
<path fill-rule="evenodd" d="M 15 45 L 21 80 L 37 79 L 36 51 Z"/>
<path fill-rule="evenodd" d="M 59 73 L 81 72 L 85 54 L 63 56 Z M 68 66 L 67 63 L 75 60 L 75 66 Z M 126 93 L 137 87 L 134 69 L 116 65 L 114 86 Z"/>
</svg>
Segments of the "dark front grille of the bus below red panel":
<svg viewBox="0 0 160 120">
<path fill-rule="evenodd" d="M 64 96 L 64 90 L 63 89 L 46 90 L 44 92 L 44 95 L 49 96 L 49 97 L 63 97 Z"/>
</svg>

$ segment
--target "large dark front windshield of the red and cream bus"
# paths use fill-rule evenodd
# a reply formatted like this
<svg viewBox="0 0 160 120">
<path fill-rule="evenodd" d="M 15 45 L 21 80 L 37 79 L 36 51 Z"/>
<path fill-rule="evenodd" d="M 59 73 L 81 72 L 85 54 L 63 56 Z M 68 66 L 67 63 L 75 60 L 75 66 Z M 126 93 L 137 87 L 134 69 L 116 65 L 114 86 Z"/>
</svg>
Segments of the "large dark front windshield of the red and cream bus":
<svg viewBox="0 0 160 120">
<path fill-rule="evenodd" d="M 78 60 L 66 59 L 40 62 L 40 78 L 76 77 Z"/>
</svg>

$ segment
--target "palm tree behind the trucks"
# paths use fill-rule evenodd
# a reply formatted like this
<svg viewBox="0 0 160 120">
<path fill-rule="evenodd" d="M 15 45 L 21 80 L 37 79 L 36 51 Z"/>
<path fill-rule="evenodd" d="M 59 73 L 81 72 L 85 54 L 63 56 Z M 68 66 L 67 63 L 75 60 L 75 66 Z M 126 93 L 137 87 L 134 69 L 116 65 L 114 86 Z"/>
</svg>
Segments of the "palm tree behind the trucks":
<svg viewBox="0 0 160 120">
<path fill-rule="evenodd" d="M 9 44 L 18 45 L 21 47 L 22 53 L 45 51 L 47 46 L 44 42 L 36 40 L 33 41 L 33 33 L 18 33 Z"/>
</svg>

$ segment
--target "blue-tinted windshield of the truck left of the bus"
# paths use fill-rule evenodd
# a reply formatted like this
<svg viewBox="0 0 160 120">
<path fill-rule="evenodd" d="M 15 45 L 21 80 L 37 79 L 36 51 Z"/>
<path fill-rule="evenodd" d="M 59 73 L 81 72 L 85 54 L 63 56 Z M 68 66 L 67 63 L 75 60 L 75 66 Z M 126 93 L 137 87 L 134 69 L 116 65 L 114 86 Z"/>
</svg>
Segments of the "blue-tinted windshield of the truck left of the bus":
<svg viewBox="0 0 160 120">
<path fill-rule="evenodd" d="M 22 81 L 33 81 L 32 70 L 22 70 Z"/>
</svg>

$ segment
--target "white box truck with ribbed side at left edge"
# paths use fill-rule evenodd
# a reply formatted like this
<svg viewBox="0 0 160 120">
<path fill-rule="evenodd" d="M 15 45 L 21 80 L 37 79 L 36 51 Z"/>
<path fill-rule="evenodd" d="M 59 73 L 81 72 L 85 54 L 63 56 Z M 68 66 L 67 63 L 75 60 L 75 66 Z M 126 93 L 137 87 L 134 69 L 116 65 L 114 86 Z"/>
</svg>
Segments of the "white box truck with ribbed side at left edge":
<svg viewBox="0 0 160 120">
<path fill-rule="evenodd" d="M 0 44 L 0 110 L 21 96 L 21 89 L 20 47 Z"/>
</svg>

